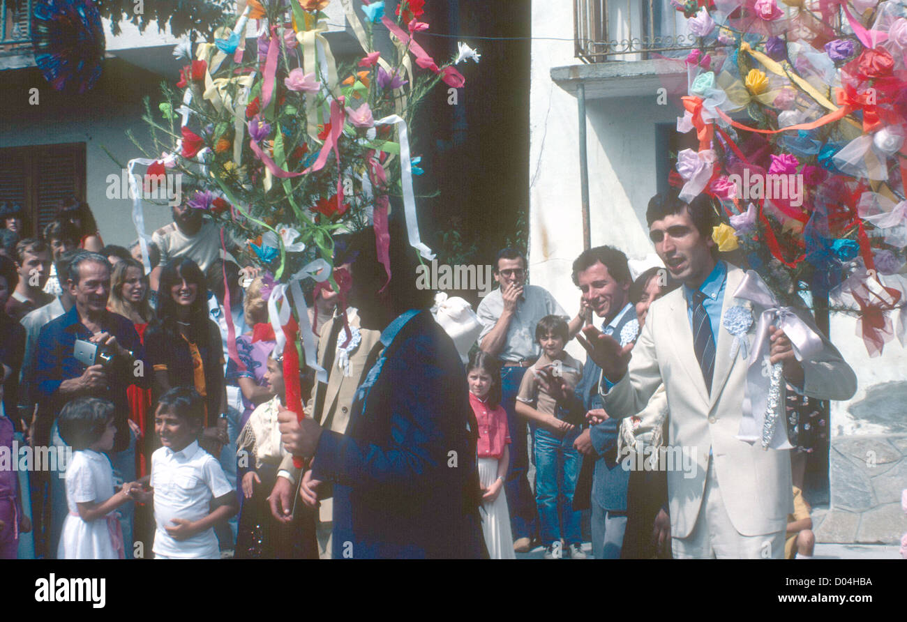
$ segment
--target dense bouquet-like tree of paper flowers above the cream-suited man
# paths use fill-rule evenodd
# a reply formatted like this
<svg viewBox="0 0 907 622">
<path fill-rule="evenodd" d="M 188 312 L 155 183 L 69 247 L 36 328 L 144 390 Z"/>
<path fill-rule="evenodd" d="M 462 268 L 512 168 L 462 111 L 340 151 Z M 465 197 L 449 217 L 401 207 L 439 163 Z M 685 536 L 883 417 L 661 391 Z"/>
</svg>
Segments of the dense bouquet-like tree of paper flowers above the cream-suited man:
<svg viewBox="0 0 907 622">
<path fill-rule="evenodd" d="M 718 247 L 780 303 L 830 296 L 870 355 L 904 344 L 907 2 L 671 4 L 698 37 L 672 183 L 712 198 Z"/>
</svg>

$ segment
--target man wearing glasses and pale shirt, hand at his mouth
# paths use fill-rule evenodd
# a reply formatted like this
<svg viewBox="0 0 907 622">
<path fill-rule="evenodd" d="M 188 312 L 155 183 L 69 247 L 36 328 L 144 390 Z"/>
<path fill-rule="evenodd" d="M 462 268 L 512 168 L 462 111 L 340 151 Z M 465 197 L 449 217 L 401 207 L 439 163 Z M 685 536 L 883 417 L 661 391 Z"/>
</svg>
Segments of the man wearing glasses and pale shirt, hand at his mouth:
<svg viewBox="0 0 907 622">
<path fill-rule="evenodd" d="M 535 498 L 526 473 L 529 457 L 526 422 L 517 415 L 514 401 L 522 376 L 540 354 L 535 325 L 544 316 L 567 316 L 551 292 L 526 284 L 526 258 L 518 250 L 504 248 L 494 261 L 494 280 L 499 287 L 482 299 L 477 315 L 483 329 L 479 346 L 502 361 L 502 406 L 511 432 L 510 466 L 504 491 L 511 515 L 513 549 L 528 552 L 536 532 Z M 571 337 L 580 330 L 579 314 L 570 321 Z"/>
</svg>

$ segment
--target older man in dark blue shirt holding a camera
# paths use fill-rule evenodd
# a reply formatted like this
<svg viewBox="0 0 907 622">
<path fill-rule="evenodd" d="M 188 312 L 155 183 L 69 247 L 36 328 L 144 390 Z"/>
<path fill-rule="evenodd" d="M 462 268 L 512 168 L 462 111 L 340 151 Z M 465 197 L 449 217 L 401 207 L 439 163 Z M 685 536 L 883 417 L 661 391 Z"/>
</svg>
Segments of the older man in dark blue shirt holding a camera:
<svg viewBox="0 0 907 622">
<path fill-rule="evenodd" d="M 62 276 L 63 277 L 63 276 Z M 116 437 L 110 452 L 117 481 L 135 479 L 135 437 L 128 419 L 130 384 L 145 387 L 144 353 L 132 320 L 107 310 L 111 266 L 107 258 L 84 252 L 70 263 L 68 280 L 75 305 L 41 329 L 35 348 L 35 384 L 39 416 L 55 419 L 63 405 L 75 397 L 110 400 L 115 406 Z M 65 444 L 56 432 L 54 444 Z M 52 528 L 49 552 L 53 556 L 66 515 L 63 479 L 52 478 Z M 120 510 L 127 556 L 132 552 L 132 505 Z"/>
</svg>

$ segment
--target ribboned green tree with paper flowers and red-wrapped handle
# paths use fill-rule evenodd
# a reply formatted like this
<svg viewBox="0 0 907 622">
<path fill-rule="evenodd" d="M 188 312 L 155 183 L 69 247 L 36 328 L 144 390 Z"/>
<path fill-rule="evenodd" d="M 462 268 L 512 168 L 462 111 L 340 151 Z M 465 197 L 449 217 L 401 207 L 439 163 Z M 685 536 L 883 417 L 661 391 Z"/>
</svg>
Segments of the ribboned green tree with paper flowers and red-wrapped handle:
<svg viewBox="0 0 907 622">
<path fill-rule="evenodd" d="M 292 345 L 301 339 L 319 376 L 300 283 L 329 279 L 343 301 L 348 281 L 332 266 L 332 234 L 364 227 L 375 229 L 392 277 L 389 196 L 402 198 L 413 252 L 434 258 L 419 236 L 408 128 L 437 83 L 463 86 L 455 63 L 479 58 L 461 45 L 456 59 L 439 64 L 424 51 L 415 40 L 429 28 L 419 21 L 424 0 L 404 0 L 395 15 L 385 15 L 383 2 L 357 11 L 351 0 L 336 1 L 363 48 L 351 66 L 336 63 L 324 35 L 329 0 L 248 0 L 213 41 L 178 46 L 185 66 L 177 90 L 165 86 L 160 106 L 146 106 L 153 146 L 134 141 L 146 157 L 129 162 L 133 184 L 144 173 L 146 196 L 179 173 L 192 208 L 249 240 L 258 265 L 278 281 L 271 294 L 278 299 L 271 321 L 285 334 L 278 331 L 278 346 L 283 336 Z M 375 50 L 376 24 L 390 34 L 389 58 Z M 258 34 L 252 49 L 247 34 Z M 141 194 L 134 192 L 134 219 L 145 252 Z M 297 348 L 284 353 L 289 382 L 298 376 L 287 369 Z M 301 416 L 298 389 L 290 389 L 288 405 Z"/>
</svg>

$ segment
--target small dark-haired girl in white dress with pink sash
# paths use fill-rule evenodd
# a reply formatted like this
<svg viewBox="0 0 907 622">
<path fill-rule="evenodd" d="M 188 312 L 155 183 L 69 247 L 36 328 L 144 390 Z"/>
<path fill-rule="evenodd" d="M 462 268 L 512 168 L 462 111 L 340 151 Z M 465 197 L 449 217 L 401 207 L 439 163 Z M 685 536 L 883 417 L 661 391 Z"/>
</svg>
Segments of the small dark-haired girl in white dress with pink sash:
<svg viewBox="0 0 907 622">
<path fill-rule="evenodd" d="M 79 397 L 63 406 L 58 422 L 63 441 L 73 447 L 66 467 L 66 505 L 69 515 L 57 559 L 124 559 L 122 530 L 114 511 L 131 501 L 136 482 L 113 491 L 113 468 L 102 452 L 113 447 L 116 425 L 113 403 Z"/>
</svg>

